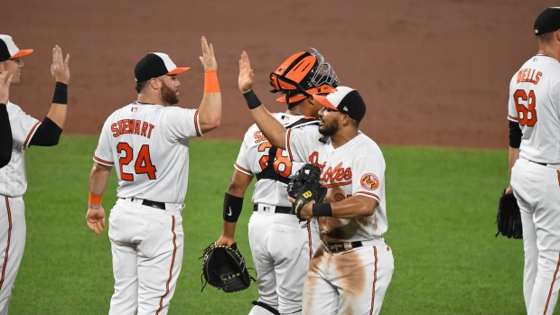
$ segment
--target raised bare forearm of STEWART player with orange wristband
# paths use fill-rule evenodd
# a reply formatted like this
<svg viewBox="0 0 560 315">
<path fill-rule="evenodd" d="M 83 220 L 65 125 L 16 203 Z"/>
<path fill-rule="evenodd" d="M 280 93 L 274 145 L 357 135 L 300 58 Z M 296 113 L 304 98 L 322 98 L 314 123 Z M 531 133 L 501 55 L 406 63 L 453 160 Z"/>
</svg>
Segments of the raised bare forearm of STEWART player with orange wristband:
<svg viewBox="0 0 560 315">
<path fill-rule="evenodd" d="M 218 63 L 214 57 L 214 47 L 202 36 L 202 57 L 204 66 L 204 96 L 199 107 L 199 121 L 202 134 L 217 128 L 221 120 L 221 93 L 219 92 Z"/>
</svg>

